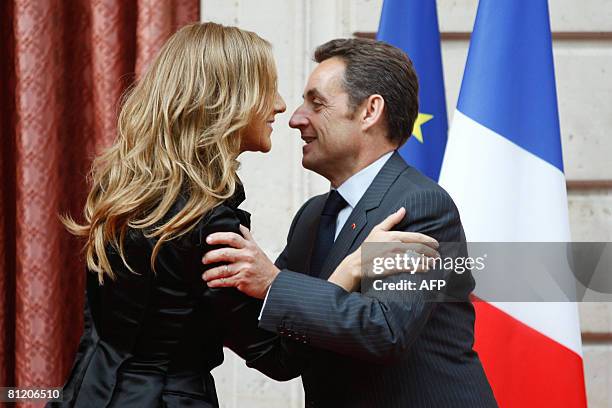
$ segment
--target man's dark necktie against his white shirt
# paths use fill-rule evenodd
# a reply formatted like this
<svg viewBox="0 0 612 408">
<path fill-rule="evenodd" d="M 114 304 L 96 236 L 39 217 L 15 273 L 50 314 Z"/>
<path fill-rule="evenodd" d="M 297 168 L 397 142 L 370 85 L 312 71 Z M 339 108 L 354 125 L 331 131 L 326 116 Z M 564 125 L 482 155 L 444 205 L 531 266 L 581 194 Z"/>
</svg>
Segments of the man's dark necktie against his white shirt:
<svg viewBox="0 0 612 408">
<path fill-rule="evenodd" d="M 317 239 L 310 258 L 310 275 L 319 276 L 323 264 L 329 255 L 329 251 L 334 244 L 334 236 L 336 234 L 336 218 L 338 213 L 348 205 L 336 190 L 331 190 L 319 222 L 319 230 Z"/>
</svg>

